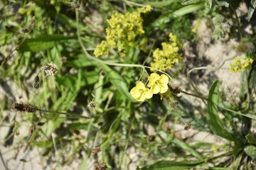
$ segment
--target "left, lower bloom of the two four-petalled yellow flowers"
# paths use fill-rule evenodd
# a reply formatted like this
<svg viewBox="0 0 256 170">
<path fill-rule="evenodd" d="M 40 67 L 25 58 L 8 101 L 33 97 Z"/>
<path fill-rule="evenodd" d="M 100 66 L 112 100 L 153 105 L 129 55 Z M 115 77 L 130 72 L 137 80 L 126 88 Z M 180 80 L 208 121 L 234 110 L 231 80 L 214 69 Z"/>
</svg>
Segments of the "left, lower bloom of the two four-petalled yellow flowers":
<svg viewBox="0 0 256 170">
<path fill-rule="evenodd" d="M 133 98 L 137 101 L 145 101 L 145 98 L 151 98 L 153 93 L 151 90 L 145 87 L 142 81 L 139 81 L 134 88 L 130 91 Z"/>
</svg>

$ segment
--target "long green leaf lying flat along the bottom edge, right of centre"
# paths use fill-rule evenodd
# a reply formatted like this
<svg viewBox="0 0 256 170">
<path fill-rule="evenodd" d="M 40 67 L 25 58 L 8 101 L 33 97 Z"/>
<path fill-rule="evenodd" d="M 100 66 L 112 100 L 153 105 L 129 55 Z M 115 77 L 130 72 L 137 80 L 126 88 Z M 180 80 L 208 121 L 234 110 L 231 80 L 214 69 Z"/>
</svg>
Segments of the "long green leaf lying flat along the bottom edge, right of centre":
<svg viewBox="0 0 256 170">
<path fill-rule="evenodd" d="M 191 169 L 195 166 L 203 164 L 204 162 L 194 162 L 194 163 L 186 163 L 186 162 L 174 162 L 174 161 L 160 161 L 152 164 L 150 166 L 146 166 L 141 170 L 182 170 L 182 169 Z"/>
</svg>

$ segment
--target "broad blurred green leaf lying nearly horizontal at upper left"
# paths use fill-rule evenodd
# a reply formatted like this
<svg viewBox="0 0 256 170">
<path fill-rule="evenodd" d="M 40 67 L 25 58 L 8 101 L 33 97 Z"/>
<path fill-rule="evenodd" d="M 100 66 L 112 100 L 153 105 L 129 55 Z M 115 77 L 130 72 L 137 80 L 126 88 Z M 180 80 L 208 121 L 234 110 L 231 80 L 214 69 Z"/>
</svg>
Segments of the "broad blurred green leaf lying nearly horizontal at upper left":
<svg viewBox="0 0 256 170">
<path fill-rule="evenodd" d="M 20 52 L 38 52 L 47 50 L 54 47 L 56 44 L 66 42 L 67 40 L 74 39 L 75 37 L 64 35 L 37 35 L 36 38 L 26 39 L 18 48 Z"/>
</svg>

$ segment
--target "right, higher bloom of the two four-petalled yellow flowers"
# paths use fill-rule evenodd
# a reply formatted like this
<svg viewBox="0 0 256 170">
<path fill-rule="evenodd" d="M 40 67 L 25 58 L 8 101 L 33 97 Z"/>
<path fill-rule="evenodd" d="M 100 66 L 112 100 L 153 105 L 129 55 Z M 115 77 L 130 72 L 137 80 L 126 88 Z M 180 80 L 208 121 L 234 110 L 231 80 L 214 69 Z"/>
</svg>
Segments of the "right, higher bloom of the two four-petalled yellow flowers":
<svg viewBox="0 0 256 170">
<path fill-rule="evenodd" d="M 168 90 L 168 83 L 169 78 L 165 74 L 159 76 L 159 74 L 152 73 L 149 77 L 148 86 L 151 87 L 153 94 L 164 94 Z"/>
</svg>

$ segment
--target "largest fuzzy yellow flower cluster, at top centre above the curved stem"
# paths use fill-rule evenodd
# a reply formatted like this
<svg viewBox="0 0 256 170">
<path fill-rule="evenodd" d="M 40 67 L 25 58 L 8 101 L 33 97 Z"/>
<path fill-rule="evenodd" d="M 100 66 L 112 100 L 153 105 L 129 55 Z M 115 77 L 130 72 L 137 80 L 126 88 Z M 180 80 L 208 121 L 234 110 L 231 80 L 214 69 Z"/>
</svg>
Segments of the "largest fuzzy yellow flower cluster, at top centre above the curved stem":
<svg viewBox="0 0 256 170">
<path fill-rule="evenodd" d="M 132 13 L 114 13 L 112 14 L 109 23 L 109 27 L 106 28 L 107 41 L 102 41 L 100 45 L 97 45 L 95 49 L 95 56 L 108 54 L 108 48 L 116 48 L 121 57 L 124 57 L 127 53 L 129 46 L 136 46 L 134 43 L 137 35 L 144 34 L 142 27 L 143 19 L 141 13 L 151 11 L 151 6 L 144 6 Z"/>
</svg>

